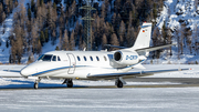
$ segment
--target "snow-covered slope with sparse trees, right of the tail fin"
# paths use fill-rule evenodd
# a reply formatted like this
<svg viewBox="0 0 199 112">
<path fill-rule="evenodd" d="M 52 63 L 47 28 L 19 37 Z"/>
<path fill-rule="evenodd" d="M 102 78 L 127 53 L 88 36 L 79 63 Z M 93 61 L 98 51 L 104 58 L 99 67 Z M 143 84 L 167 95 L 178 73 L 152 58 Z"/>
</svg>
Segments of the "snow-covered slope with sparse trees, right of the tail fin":
<svg viewBox="0 0 199 112">
<path fill-rule="evenodd" d="M 172 47 L 172 55 L 167 55 L 168 51 L 161 53 L 160 59 L 153 60 L 153 63 L 196 63 L 199 62 L 198 55 L 198 42 L 199 42 L 199 1 L 198 0 L 166 0 L 164 2 L 163 11 L 159 18 L 157 18 L 157 26 L 163 28 L 164 22 L 166 27 L 171 30 L 172 42 L 178 43 Z M 180 39 L 182 35 L 181 24 L 185 24 L 185 29 L 190 29 L 190 35 L 186 35 L 185 39 Z M 179 40 L 178 40 L 179 38 Z M 178 52 L 180 48 L 180 41 L 182 43 L 182 52 Z M 190 45 L 188 45 L 188 41 Z M 148 60 L 147 63 L 151 61 Z"/>
</svg>

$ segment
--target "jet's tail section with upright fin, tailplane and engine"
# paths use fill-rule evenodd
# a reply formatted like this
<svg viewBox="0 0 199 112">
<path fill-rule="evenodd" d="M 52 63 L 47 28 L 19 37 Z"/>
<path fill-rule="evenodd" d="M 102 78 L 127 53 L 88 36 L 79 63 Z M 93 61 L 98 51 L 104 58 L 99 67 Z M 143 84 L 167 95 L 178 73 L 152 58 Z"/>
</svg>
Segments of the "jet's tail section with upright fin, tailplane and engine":
<svg viewBox="0 0 199 112">
<path fill-rule="evenodd" d="M 150 51 L 156 51 L 159 49 L 168 48 L 174 44 L 166 44 L 159 47 L 149 47 L 151 39 L 151 23 L 145 22 L 139 30 L 137 39 L 132 48 L 115 47 L 121 48 L 121 50 L 114 51 L 113 57 L 113 67 L 123 68 L 122 70 L 130 70 L 133 68 L 144 69 L 142 65 L 143 62 L 147 59 Z M 128 68 L 126 68 L 128 67 Z"/>
</svg>

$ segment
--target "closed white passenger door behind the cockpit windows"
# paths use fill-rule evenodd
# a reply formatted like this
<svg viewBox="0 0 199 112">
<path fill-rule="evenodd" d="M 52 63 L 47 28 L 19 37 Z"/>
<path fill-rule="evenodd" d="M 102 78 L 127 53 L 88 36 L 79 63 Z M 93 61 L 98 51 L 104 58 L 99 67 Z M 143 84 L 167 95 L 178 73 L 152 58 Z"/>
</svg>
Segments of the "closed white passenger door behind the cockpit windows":
<svg viewBox="0 0 199 112">
<path fill-rule="evenodd" d="M 75 65 L 76 65 L 76 61 L 75 61 L 75 57 L 72 53 L 67 53 L 69 60 L 70 60 L 70 68 L 67 73 L 69 74 L 74 74 L 75 72 Z"/>
</svg>

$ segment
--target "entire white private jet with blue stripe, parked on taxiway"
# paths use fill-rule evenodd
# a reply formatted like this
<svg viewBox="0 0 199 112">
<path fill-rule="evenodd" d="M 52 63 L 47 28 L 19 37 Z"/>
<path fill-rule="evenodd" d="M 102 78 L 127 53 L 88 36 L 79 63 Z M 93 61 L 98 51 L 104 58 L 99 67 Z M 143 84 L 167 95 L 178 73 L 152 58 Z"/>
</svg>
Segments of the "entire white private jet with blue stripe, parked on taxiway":
<svg viewBox="0 0 199 112">
<path fill-rule="evenodd" d="M 151 23 L 145 22 L 132 48 L 116 47 L 122 49 L 115 51 L 51 51 L 24 67 L 20 74 L 23 78 L 35 79 L 34 89 L 39 88 L 42 79 L 64 79 L 63 83 L 66 83 L 67 88 L 73 86 L 73 80 L 115 80 L 115 85 L 123 88 L 126 84 L 125 79 L 179 71 L 144 71 L 145 67 L 142 63 L 146 61 L 150 51 L 174 45 L 149 47 Z M 135 72 L 134 69 L 140 71 Z"/>
</svg>

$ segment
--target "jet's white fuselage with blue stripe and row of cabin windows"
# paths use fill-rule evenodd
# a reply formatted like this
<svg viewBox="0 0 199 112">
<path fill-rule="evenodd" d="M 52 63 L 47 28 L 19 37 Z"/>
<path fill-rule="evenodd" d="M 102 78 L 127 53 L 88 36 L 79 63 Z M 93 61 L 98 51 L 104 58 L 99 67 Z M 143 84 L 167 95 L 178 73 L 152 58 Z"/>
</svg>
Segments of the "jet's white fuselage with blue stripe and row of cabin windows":
<svg viewBox="0 0 199 112">
<path fill-rule="evenodd" d="M 21 70 L 23 77 L 87 79 L 86 75 L 127 72 L 114 68 L 114 52 L 107 51 L 52 51 L 51 60 L 38 60 Z M 55 55 L 55 61 L 53 57 Z"/>
</svg>

